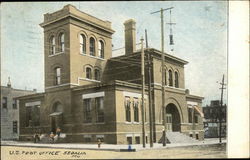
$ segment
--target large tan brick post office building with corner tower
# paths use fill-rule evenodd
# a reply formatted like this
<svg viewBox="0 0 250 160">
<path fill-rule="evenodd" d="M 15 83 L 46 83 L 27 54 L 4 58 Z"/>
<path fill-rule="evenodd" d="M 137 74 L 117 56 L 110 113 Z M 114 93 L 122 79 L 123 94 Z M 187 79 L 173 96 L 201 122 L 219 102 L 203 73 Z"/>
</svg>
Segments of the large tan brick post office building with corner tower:
<svg viewBox="0 0 250 160">
<path fill-rule="evenodd" d="M 136 49 L 136 22 L 125 26 L 125 55 L 112 57 L 111 22 L 72 5 L 44 15 L 45 92 L 19 97 L 20 139 L 60 127 L 67 142 L 142 143 L 141 50 Z M 161 52 L 150 55 L 153 139 L 162 137 Z M 145 67 L 148 67 L 148 62 Z M 165 54 L 165 106 L 168 132 L 203 139 L 202 97 L 186 92 L 184 65 Z M 145 72 L 146 86 L 148 72 Z M 146 87 L 146 93 L 148 88 Z M 145 95 L 146 141 L 149 139 L 148 95 Z"/>
</svg>

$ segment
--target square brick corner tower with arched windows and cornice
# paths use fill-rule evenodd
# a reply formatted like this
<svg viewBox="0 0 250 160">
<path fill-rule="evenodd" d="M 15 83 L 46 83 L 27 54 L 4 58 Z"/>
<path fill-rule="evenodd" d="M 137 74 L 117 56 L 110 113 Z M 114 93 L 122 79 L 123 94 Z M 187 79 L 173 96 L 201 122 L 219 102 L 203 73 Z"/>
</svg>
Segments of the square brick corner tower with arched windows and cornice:
<svg viewBox="0 0 250 160">
<path fill-rule="evenodd" d="M 66 5 L 44 15 L 45 90 L 102 81 L 112 56 L 109 21 L 103 21 Z"/>
</svg>

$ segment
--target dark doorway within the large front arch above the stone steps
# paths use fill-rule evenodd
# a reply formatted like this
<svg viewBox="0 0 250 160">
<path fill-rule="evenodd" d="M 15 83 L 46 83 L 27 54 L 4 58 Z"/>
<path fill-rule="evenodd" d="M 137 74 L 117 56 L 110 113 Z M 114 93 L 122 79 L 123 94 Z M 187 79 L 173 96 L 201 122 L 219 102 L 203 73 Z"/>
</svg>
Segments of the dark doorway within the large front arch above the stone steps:
<svg viewBox="0 0 250 160">
<path fill-rule="evenodd" d="M 180 131 L 180 113 L 173 103 L 166 106 L 166 131 L 179 132 Z"/>
</svg>

